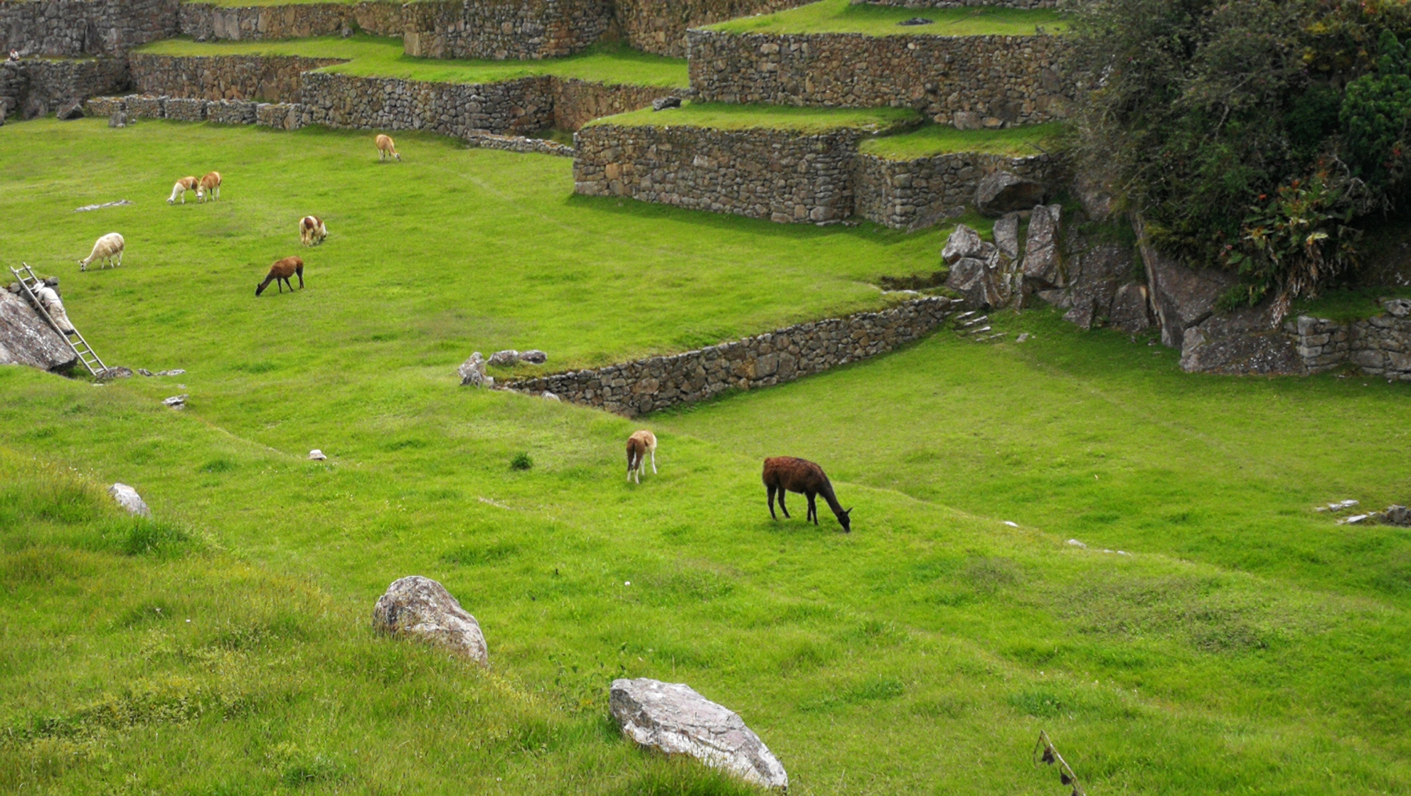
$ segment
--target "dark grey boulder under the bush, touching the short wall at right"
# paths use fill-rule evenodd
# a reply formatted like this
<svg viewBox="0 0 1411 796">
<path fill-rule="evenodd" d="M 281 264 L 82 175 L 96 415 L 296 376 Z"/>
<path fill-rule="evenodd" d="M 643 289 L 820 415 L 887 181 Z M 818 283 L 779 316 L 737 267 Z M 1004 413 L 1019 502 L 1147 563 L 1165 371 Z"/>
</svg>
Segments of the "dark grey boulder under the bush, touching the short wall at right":
<svg viewBox="0 0 1411 796">
<path fill-rule="evenodd" d="M 1304 372 L 1294 341 L 1274 324 L 1273 301 L 1211 316 L 1184 330 L 1181 369 L 1198 373 L 1290 375 Z"/>
</svg>

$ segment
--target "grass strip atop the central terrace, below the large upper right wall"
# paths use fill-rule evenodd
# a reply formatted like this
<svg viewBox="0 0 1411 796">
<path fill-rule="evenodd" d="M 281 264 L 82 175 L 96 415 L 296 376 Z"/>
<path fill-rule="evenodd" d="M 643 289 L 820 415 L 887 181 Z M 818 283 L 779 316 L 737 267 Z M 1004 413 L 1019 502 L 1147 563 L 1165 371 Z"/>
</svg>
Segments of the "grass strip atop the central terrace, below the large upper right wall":
<svg viewBox="0 0 1411 796">
<path fill-rule="evenodd" d="M 624 127 L 710 127 L 714 130 L 789 130 L 794 132 L 825 132 L 859 128 L 869 132 L 906 128 L 921 116 L 912 108 L 810 108 L 793 106 L 758 106 L 728 103 L 682 103 L 679 108 L 635 110 L 604 116 L 594 124 Z"/>
</svg>

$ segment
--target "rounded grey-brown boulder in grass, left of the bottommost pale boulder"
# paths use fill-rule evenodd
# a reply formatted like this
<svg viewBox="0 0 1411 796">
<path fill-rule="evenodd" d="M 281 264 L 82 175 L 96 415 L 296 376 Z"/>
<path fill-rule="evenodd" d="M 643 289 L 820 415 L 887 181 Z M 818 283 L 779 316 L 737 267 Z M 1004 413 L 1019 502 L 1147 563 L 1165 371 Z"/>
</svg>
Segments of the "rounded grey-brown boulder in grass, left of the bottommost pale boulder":
<svg viewBox="0 0 1411 796">
<path fill-rule="evenodd" d="M 373 607 L 373 627 L 382 633 L 425 638 L 483 666 L 490 665 L 480 623 L 460 607 L 444 586 L 430 578 L 411 575 L 394 580 Z"/>
</svg>

